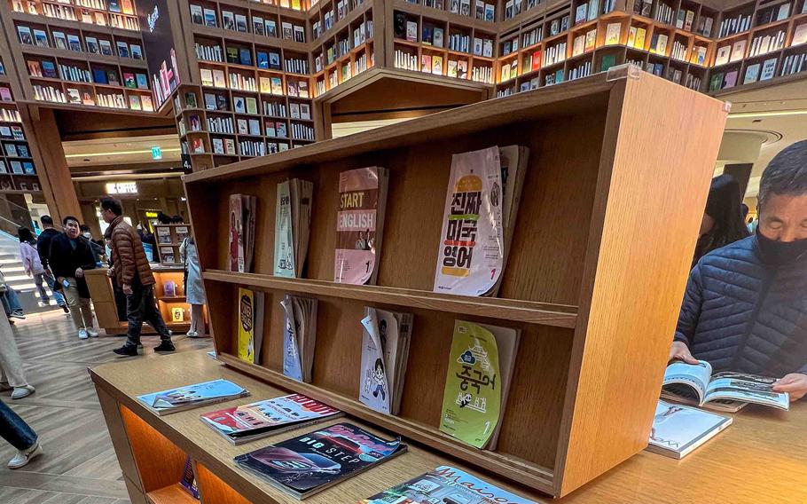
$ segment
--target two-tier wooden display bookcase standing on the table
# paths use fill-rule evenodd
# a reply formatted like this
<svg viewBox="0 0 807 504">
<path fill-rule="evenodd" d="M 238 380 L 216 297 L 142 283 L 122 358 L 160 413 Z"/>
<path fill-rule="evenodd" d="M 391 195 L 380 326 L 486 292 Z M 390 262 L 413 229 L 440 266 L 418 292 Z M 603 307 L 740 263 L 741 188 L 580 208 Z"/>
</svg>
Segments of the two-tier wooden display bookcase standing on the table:
<svg viewBox="0 0 807 504">
<path fill-rule="evenodd" d="M 215 347 L 228 366 L 553 496 L 646 446 L 726 107 L 634 67 L 185 176 Z M 530 149 L 500 297 L 432 292 L 451 154 Z M 337 179 L 390 170 L 377 286 L 333 283 Z M 276 185 L 314 182 L 301 279 L 272 276 Z M 254 272 L 228 272 L 228 201 L 257 197 Z M 671 219 L 670 215 L 676 218 Z M 237 358 L 239 287 L 265 291 L 261 364 Z M 313 382 L 282 374 L 286 293 L 319 300 Z M 364 306 L 415 315 L 399 416 L 357 400 Z M 439 430 L 454 319 L 519 327 L 495 452 Z"/>
</svg>

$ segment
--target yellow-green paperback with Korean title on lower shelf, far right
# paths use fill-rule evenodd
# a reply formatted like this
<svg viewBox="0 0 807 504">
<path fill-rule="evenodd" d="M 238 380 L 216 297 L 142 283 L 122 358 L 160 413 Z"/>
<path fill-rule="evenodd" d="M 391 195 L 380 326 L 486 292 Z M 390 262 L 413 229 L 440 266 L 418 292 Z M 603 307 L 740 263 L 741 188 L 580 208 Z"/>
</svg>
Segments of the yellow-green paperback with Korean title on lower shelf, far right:
<svg viewBox="0 0 807 504">
<path fill-rule="evenodd" d="M 495 450 L 521 330 L 454 321 L 440 430 Z"/>
</svg>

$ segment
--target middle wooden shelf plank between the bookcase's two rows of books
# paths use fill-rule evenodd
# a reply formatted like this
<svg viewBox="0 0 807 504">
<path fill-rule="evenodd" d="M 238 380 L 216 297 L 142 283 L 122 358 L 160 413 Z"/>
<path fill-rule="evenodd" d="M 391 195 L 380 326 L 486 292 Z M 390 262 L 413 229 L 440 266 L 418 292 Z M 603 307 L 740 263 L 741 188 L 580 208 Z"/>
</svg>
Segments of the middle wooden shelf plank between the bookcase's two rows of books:
<svg viewBox="0 0 807 504">
<path fill-rule="evenodd" d="M 577 322 L 577 307 L 566 304 L 535 303 L 491 297 L 444 295 L 397 287 L 354 286 L 323 280 L 283 279 L 257 273 L 234 273 L 220 270 L 204 272 L 204 278 L 227 283 L 246 284 L 311 295 L 329 295 L 358 301 L 384 303 L 424 308 L 427 310 L 451 311 L 465 315 L 508 319 L 545 326 L 574 328 Z"/>
</svg>

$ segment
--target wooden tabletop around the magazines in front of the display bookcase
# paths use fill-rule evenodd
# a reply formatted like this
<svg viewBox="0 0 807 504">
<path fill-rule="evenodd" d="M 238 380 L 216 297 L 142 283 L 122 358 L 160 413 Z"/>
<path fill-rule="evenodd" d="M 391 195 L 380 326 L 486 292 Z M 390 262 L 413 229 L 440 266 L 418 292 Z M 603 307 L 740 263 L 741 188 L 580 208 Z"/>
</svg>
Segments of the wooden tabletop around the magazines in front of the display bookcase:
<svg viewBox="0 0 807 504">
<path fill-rule="evenodd" d="M 160 386 L 165 388 L 223 378 L 246 387 L 252 395 L 214 406 L 157 416 L 148 411 L 145 406 L 140 406 L 137 403 L 137 395 L 156 390 L 151 377 L 157 374 L 161 376 Z M 299 500 L 276 490 L 261 478 L 239 469 L 232 459 L 241 453 L 247 453 L 265 445 L 299 436 L 309 428 L 291 430 L 245 445 L 234 446 L 223 437 L 215 435 L 207 425 L 199 420 L 200 413 L 243 405 L 255 400 L 278 397 L 286 394 L 286 390 L 259 382 L 255 378 L 241 374 L 227 366 L 221 366 L 208 358 L 204 351 L 184 352 L 159 359 L 129 360 L 113 365 L 98 366 L 90 370 L 90 375 L 99 387 L 114 396 L 122 408 L 129 409 L 131 413 L 141 417 L 149 429 L 153 429 L 153 431 L 159 432 L 160 436 L 166 437 L 169 443 L 176 445 L 177 450 L 190 454 L 192 459 L 197 461 L 199 467 L 203 466 L 208 469 L 209 472 L 215 474 L 216 477 L 247 501 L 268 504 L 293 504 L 299 502 Z M 393 436 L 388 431 L 375 429 L 372 425 L 351 417 L 328 421 L 321 425 L 329 425 L 339 421 L 350 421 L 382 437 Z M 129 431 L 129 433 L 131 434 L 132 431 Z M 137 433 L 137 436 L 141 435 L 152 437 L 153 432 L 152 430 L 145 430 Z M 132 439 L 130 439 L 130 442 L 137 443 Z M 490 479 L 490 476 L 482 476 L 474 469 L 468 468 L 463 461 L 437 454 L 416 443 L 407 442 L 407 444 L 409 445 L 407 453 L 391 461 L 384 462 L 370 471 L 354 476 L 341 484 L 337 484 L 305 501 L 313 504 L 356 502 L 374 493 L 381 492 L 394 484 L 419 476 L 439 465 L 451 465 L 458 469 L 467 470 L 475 476 Z M 160 452 L 153 453 L 153 457 L 160 456 Z M 154 462 L 148 461 L 146 463 Z M 200 474 L 204 475 L 203 470 L 200 471 Z M 529 496 L 529 498 L 537 502 L 544 501 L 536 493 L 529 493 L 518 484 L 504 482 L 498 482 L 497 484 L 511 492 Z M 230 492 L 225 493 L 225 495 L 229 494 Z M 223 502 L 227 501 L 224 500 Z"/>
</svg>

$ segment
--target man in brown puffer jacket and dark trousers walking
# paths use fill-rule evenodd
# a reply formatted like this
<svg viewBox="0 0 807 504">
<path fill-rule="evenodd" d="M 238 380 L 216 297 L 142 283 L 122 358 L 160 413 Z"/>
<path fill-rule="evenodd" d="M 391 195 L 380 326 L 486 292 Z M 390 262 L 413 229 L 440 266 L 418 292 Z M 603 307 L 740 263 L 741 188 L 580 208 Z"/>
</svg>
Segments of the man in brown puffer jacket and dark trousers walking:
<svg viewBox="0 0 807 504">
<path fill-rule="evenodd" d="M 121 202 L 114 198 L 101 200 L 101 217 L 109 228 L 112 241 L 112 255 L 114 266 L 109 270 L 110 277 L 114 276 L 123 294 L 126 295 L 126 318 L 129 320 L 129 331 L 126 343 L 114 352 L 121 357 L 137 355 L 137 345 L 140 344 L 140 331 L 143 321 L 160 335 L 161 342 L 154 351 L 174 351 L 168 327 L 157 309 L 154 300 L 154 275 L 145 256 L 143 243 L 137 232 L 123 221 L 123 207 Z"/>
</svg>

